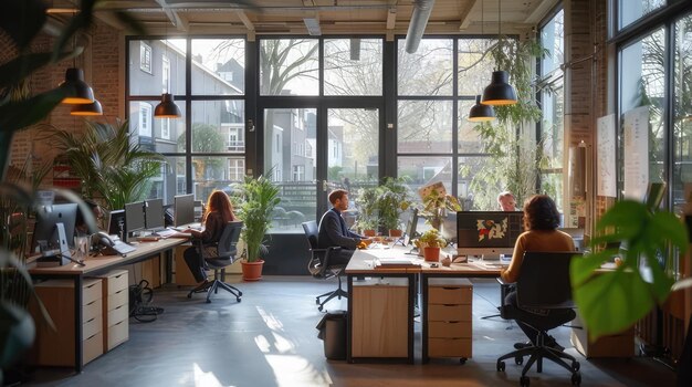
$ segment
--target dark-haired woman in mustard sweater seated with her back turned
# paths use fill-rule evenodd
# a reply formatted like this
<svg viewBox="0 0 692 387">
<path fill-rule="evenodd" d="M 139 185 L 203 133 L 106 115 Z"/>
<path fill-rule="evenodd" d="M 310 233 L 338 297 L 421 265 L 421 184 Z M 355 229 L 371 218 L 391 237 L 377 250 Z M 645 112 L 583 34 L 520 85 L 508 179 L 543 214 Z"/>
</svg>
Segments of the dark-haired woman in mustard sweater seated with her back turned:
<svg viewBox="0 0 692 387">
<path fill-rule="evenodd" d="M 500 276 L 505 283 L 516 282 L 524 261 L 524 252 L 552 252 L 552 251 L 575 251 L 574 241 L 569 234 L 558 230 L 559 212 L 555 206 L 555 201 L 546 195 L 534 195 L 524 202 L 524 231 L 514 244 L 514 253 L 510 266 L 501 271 Z M 532 326 L 522 323 L 528 318 L 523 317 L 525 314 L 536 314 L 537 311 L 526 311 L 517 306 L 516 290 L 510 292 L 505 296 L 505 306 L 512 308 L 511 315 L 517 316 L 515 320 L 531 342 L 536 344 L 537 331 Z M 539 311 L 544 316 L 553 316 L 556 320 L 562 318 L 565 310 L 546 310 Z M 547 313 L 544 313 L 547 312 Z M 549 324 L 547 324 L 549 325 Z M 564 347 L 555 342 L 552 336 L 545 343 L 557 351 Z M 518 349 L 531 345 L 528 343 L 517 343 L 514 346 Z"/>
</svg>

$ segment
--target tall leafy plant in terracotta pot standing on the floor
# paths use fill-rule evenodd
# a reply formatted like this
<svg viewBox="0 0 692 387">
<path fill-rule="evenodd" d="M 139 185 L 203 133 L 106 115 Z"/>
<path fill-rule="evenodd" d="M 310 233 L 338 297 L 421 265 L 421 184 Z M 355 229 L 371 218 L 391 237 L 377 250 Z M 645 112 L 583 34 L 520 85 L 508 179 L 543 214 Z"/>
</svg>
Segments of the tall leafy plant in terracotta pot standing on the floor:
<svg viewBox="0 0 692 387">
<path fill-rule="evenodd" d="M 272 224 L 274 208 L 281 201 L 279 187 L 265 176 L 260 176 L 256 179 L 245 177 L 238 188 L 241 199 L 239 212 L 243 220 L 241 238 L 245 243 L 244 259 L 241 260 L 243 281 L 258 281 L 262 278 L 264 264 L 260 255 L 266 252 L 264 234 Z"/>
</svg>

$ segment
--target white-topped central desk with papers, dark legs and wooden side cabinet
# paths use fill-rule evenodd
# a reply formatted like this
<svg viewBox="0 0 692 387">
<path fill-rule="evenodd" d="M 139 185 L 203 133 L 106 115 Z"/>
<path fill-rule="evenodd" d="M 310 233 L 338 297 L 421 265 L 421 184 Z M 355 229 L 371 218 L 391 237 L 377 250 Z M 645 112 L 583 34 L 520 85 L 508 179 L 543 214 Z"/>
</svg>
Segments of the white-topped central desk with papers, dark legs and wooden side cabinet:
<svg viewBox="0 0 692 387">
<path fill-rule="evenodd" d="M 439 268 L 430 268 L 430 263 L 424 262 L 418 255 L 407 255 L 408 248 L 405 247 L 395 247 L 392 249 L 367 249 L 367 250 L 356 250 L 354 255 L 352 257 L 348 265 L 346 266 L 346 276 L 348 284 L 348 328 L 347 328 L 347 352 L 346 358 L 349 363 L 356 363 L 359 360 L 368 362 L 368 360 L 378 360 L 378 362 L 397 362 L 397 360 L 406 360 L 407 363 L 413 363 L 413 304 L 416 300 L 416 275 L 420 274 L 423 287 L 423 362 L 428 360 L 428 281 L 430 278 L 494 278 L 500 275 L 500 266 L 493 266 L 484 264 L 483 262 L 470 262 L 470 263 L 454 263 L 449 268 L 439 266 Z M 415 265 L 411 266 L 375 266 L 375 260 L 382 258 L 410 258 Z M 381 278 L 401 278 L 405 279 L 406 286 L 408 290 L 408 300 L 406 304 L 407 316 L 406 321 L 408 322 L 406 326 L 406 356 L 385 356 L 388 355 L 388 346 L 387 344 L 380 343 L 380 348 L 382 348 L 382 356 L 354 356 L 353 347 L 354 343 L 360 345 L 361 337 L 359 331 L 354 332 L 354 312 L 357 313 L 364 312 L 361 310 L 363 300 L 360 300 L 367 293 L 356 294 L 354 292 L 354 278 L 356 276 L 381 276 Z M 397 283 L 401 285 L 400 283 Z M 366 283 L 367 285 L 367 283 Z M 381 285 L 380 285 L 381 286 Z M 354 296 L 355 295 L 355 296 Z M 381 305 L 380 305 L 381 306 Z M 367 310 L 365 310 L 367 312 Z M 395 312 L 400 313 L 400 312 Z M 361 318 L 361 317 L 357 317 Z M 387 317 L 385 317 L 387 318 Z M 397 318 L 394 316 L 392 318 Z M 360 324 L 360 323 L 358 323 Z M 360 327 L 356 327 L 356 330 L 360 330 Z M 354 334 L 356 336 L 354 336 Z M 373 337 L 368 338 L 373 341 Z M 384 337 L 385 341 L 388 341 L 388 337 Z M 400 337 L 399 342 L 401 342 L 403 337 Z M 360 355 L 361 353 L 356 353 L 356 355 Z"/>
</svg>

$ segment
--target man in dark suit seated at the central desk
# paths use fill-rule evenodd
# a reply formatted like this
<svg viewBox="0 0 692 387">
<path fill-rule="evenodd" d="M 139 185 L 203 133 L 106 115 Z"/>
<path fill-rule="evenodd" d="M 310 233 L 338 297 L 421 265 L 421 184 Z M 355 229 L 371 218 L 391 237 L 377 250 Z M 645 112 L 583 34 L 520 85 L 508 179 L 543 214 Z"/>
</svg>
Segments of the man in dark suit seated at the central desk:
<svg viewBox="0 0 692 387">
<path fill-rule="evenodd" d="M 332 209 L 325 212 L 319 220 L 319 233 L 317 236 L 317 244 L 321 249 L 329 247 L 340 247 L 342 250 L 331 262 L 335 264 L 347 264 L 353 255 L 354 250 L 363 239 L 367 239 L 348 230 L 342 211 L 348 208 L 348 191 L 336 189 L 329 194 L 329 202 Z"/>
</svg>

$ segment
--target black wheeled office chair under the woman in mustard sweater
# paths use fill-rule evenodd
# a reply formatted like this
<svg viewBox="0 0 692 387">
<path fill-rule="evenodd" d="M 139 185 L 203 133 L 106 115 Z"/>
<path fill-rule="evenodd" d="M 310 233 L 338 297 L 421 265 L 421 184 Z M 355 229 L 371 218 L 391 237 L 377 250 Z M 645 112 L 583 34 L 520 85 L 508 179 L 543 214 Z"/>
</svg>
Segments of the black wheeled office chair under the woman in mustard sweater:
<svg viewBox="0 0 692 387">
<path fill-rule="evenodd" d="M 581 384 L 579 362 L 574 356 L 548 346 L 547 332 L 558 327 L 576 316 L 572 307 L 572 285 L 569 283 L 569 261 L 580 254 L 575 252 L 526 252 L 522 270 L 516 281 L 516 297 L 520 308 L 549 310 L 551 318 L 541 314 L 517 311 L 511 305 L 503 307 L 502 317 L 512 318 L 528 325 L 537 332 L 536 344 L 513 351 L 497 358 L 497 372 L 504 372 L 504 359 L 514 358 L 517 365 L 523 364 L 524 356 L 531 356 L 520 378 L 521 386 L 528 386 L 526 373 L 536 363 L 536 370 L 543 372 L 543 359 L 549 359 L 572 373 L 572 384 Z M 520 313 L 520 314 L 517 314 Z M 569 362 L 569 364 L 567 363 Z"/>
</svg>

